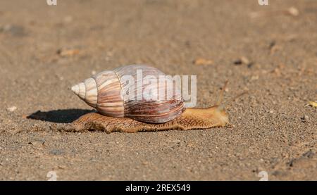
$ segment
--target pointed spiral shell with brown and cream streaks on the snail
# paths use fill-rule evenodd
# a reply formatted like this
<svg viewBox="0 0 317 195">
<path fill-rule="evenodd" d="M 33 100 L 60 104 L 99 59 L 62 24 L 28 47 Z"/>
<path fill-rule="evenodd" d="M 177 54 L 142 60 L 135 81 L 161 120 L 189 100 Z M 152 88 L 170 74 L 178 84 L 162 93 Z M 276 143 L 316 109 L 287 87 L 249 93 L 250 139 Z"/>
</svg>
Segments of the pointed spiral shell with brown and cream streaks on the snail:
<svg viewBox="0 0 317 195">
<path fill-rule="evenodd" d="M 137 70 L 142 70 L 142 82 L 137 76 Z M 127 84 L 125 75 L 134 78 L 135 84 L 130 91 L 131 85 Z M 80 99 L 96 108 L 102 115 L 163 123 L 173 120 L 184 111 L 184 100 L 178 86 L 166 84 L 166 81 L 173 82 L 172 78 L 165 77 L 166 80 L 157 80 L 157 82 L 144 80 L 147 76 L 159 78 L 160 75 L 165 74 L 147 65 L 126 65 L 112 71 L 98 73 L 74 85 L 71 89 Z M 166 88 L 164 89 L 165 96 L 158 96 L 155 100 L 147 99 L 142 93 L 144 89 L 160 92 L 158 88 L 161 87 Z M 168 98 L 168 92 L 173 94 L 170 98 Z M 134 98 L 131 99 L 131 96 Z"/>
</svg>

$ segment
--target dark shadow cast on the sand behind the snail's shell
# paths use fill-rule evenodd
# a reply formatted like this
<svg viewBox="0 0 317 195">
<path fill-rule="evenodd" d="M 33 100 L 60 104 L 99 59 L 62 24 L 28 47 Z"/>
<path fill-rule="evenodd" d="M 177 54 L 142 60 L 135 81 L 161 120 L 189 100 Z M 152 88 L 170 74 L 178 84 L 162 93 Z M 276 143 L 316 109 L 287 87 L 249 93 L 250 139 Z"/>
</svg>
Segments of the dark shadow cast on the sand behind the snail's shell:
<svg viewBox="0 0 317 195">
<path fill-rule="evenodd" d="M 43 120 L 47 122 L 56 123 L 70 123 L 77 120 L 82 115 L 87 113 L 92 113 L 94 110 L 84 110 L 84 109 L 65 109 L 56 111 L 37 111 L 27 116 L 28 119 Z"/>
</svg>

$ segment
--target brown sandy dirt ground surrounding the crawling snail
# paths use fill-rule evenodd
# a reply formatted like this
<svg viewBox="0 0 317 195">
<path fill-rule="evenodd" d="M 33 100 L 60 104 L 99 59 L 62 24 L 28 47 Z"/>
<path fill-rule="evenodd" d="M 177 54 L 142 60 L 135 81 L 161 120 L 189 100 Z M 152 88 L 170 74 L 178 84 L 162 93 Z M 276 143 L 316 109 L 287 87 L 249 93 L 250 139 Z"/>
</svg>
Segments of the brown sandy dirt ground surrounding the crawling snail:
<svg viewBox="0 0 317 195">
<path fill-rule="evenodd" d="M 0 1 L 0 180 L 317 180 L 317 1 L 57 3 Z M 249 94 L 231 128 L 61 131 L 72 84 L 133 63 L 197 75 L 197 107 Z"/>
</svg>

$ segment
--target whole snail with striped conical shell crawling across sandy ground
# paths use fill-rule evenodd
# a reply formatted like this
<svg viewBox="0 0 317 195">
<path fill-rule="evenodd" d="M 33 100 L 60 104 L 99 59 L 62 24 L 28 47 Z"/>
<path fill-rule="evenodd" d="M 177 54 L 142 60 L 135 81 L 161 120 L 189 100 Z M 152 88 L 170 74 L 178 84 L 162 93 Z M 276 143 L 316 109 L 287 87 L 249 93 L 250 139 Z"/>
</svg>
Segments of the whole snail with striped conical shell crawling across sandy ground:
<svg viewBox="0 0 317 195">
<path fill-rule="evenodd" d="M 138 70 L 142 70 L 143 74 L 141 84 L 137 83 L 140 81 Z M 130 75 L 130 78 L 136 80 L 129 80 L 130 84 L 127 84 L 125 75 Z M 147 65 L 126 65 L 112 71 L 103 71 L 74 85 L 72 91 L 89 106 L 96 108 L 97 112 L 82 115 L 68 127 L 68 130 L 141 132 L 207 129 L 230 125 L 225 112 L 226 103 L 222 103 L 223 92 L 228 82 L 225 82 L 216 106 L 185 108 L 178 87 L 166 85 L 166 80 L 152 84 L 144 79 L 147 75 L 159 76 L 164 73 Z M 129 88 L 131 83 L 132 86 L 136 84 L 136 87 Z M 169 99 L 166 98 L 168 93 L 159 99 L 147 99 L 144 94 L 137 93 L 139 89 L 156 89 L 162 86 L 166 87 L 167 92 L 173 92 Z"/>
</svg>

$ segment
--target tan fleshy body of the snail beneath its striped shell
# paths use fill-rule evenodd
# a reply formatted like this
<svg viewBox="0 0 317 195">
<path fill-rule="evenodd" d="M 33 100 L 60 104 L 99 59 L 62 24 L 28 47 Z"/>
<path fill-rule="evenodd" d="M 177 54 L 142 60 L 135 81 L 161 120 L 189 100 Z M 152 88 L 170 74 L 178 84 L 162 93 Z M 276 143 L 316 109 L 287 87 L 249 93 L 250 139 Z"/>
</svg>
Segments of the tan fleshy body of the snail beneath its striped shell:
<svg viewBox="0 0 317 195">
<path fill-rule="evenodd" d="M 113 118 L 100 113 L 87 113 L 64 128 L 66 131 L 101 132 L 149 132 L 165 130 L 197 130 L 230 125 L 228 115 L 220 106 L 210 108 L 186 108 L 174 120 L 155 124 L 140 122 L 131 118 Z"/>
</svg>

